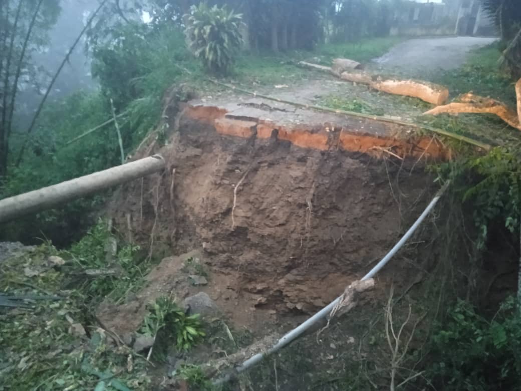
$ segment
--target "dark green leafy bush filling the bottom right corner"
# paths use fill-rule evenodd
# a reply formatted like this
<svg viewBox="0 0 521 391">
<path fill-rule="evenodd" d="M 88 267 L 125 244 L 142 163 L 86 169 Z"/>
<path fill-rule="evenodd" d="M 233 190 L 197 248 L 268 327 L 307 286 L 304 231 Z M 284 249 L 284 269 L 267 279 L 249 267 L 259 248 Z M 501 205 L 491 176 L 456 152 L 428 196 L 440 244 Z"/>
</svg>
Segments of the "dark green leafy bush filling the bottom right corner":
<svg viewBox="0 0 521 391">
<path fill-rule="evenodd" d="M 491 321 L 459 301 L 432 338 L 429 376 L 446 390 L 521 389 L 521 315 L 506 300 Z"/>
</svg>

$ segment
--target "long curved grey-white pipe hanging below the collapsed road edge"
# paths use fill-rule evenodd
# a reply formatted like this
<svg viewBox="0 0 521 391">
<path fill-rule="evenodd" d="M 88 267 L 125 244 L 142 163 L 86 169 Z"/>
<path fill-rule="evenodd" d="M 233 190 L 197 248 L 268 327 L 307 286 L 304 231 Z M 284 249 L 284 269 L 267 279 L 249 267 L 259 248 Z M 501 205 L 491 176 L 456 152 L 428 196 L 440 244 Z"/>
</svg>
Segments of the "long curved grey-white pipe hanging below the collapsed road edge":
<svg viewBox="0 0 521 391">
<path fill-rule="evenodd" d="M 423 213 L 418 217 L 418 219 L 414 222 L 414 224 L 411 226 L 411 228 L 408 229 L 408 231 L 405 233 L 405 235 L 400 239 L 398 243 L 387 253 L 386 256 L 382 258 L 380 262 L 376 264 L 375 267 L 371 269 L 369 273 L 367 273 L 363 278 L 363 280 L 373 278 L 373 276 L 378 273 L 383 266 L 385 266 L 389 260 L 393 257 L 396 252 L 405 244 L 405 242 L 414 234 L 414 231 L 419 227 L 419 225 L 424 221 L 425 217 L 432 211 L 433 207 L 436 206 L 438 201 L 440 200 L 441 196 L 445 192 L 445 190 L 449 187 L 450 181 L 447 181 L 445 185 L 436 193 L 436 196 L 432 199 L 432 201 L 427 205 L 426 209 L 423 211 Z M 334 299 L 331 303 L 328 304 L 327 307 L 322 308 L 320 311 L 318 311 L 315 315 L 310 317 L 307 321 L 302 323 L 300 326 L 297 326 L 292 331 L 284 335 L 282 338 L 280 338 L 277 343 L 272 346 L 271 348 L 267 349 L 263 353 L 257 353 L 255 356 L 247 359 L 244 361 L 241 365 L 237 366 L 237 368 L 234 369 L 233 372 L 219 378 L 214 382 L 215 385 L 222 384 L 228 382 L 232 375 L 235 373 L 241 373 L 246 371 L 247 369 L 250 369 L 253 365 L 257 364 L 258 362 L 262 361 L 263 358 L 271 355 L 272 353 L 275 353 L 276 351 L 282 349 L 284 346 L 288 345 L 290 342 L 301 336 L 307 329 L 311 328 L 315 323 L 320 321 L 322 318 L 326 317 L 331 310 L 337 305 L 339 302 L 340 297 L 337 297 Z"/>
</svg>

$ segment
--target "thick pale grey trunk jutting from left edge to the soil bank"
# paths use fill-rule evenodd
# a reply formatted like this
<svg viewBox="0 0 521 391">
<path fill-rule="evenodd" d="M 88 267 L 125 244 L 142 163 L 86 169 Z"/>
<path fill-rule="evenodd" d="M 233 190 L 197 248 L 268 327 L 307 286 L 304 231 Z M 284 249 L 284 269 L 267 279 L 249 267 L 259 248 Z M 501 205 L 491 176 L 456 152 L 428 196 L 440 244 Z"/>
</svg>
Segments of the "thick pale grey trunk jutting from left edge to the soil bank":
<svg viewBox="0 0 521 391">
<path fill-rule="evenodd" d="M 57 185 L 0 200 L 0 223 L 5 223 L 30 213 L 51 209 L 55 206 L 63 206 L 65 202 L 156 173 L 164 167 L 165 160 L 163 157 L 154 155 L 132 163 L 61 182 Z"/>
</svg>

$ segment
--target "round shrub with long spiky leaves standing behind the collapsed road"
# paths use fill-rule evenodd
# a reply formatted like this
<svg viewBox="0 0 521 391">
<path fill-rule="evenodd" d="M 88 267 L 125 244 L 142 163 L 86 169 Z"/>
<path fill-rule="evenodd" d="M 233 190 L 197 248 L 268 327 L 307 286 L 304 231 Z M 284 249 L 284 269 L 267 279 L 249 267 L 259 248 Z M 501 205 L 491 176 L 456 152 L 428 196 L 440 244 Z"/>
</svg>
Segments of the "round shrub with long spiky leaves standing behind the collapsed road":
<svg viewBox="0 0 521 391">
<path fill-rule="evenodd" d="M 226 6 L 193 5 L 185 34 L 190 50 L 214 74 L 226 74 L 242 45 L 242 15 Z"/>
</svg>

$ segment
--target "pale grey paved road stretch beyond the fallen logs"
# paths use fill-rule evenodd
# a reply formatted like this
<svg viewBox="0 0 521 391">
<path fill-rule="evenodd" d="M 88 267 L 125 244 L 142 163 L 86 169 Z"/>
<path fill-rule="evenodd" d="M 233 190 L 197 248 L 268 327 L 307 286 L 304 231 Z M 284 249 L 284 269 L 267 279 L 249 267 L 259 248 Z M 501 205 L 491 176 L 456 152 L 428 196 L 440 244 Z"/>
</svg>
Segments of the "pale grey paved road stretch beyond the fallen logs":
<svg viewBox="0 0 521 391">
<path fill-rule="evenodd" d="M 494 41 L 495 38 L 472 36 L 411 39 L 375 58 L 373 67 L 421 77 L 440 69 L 458 68 L 465 63 L 469 51 Z"/>
</svg>

